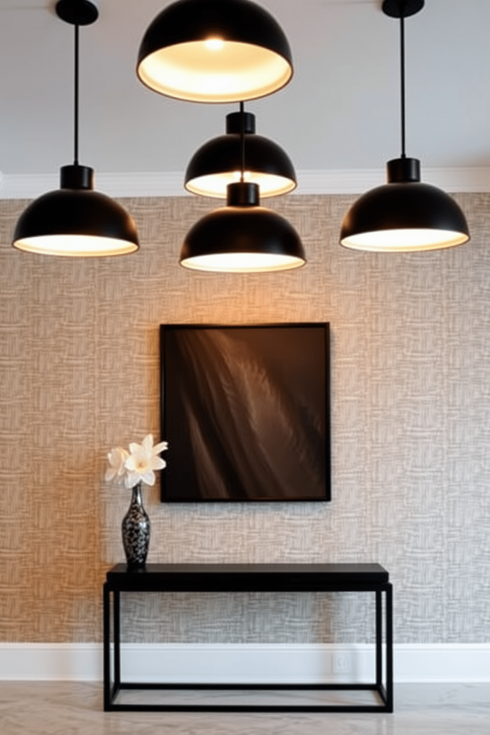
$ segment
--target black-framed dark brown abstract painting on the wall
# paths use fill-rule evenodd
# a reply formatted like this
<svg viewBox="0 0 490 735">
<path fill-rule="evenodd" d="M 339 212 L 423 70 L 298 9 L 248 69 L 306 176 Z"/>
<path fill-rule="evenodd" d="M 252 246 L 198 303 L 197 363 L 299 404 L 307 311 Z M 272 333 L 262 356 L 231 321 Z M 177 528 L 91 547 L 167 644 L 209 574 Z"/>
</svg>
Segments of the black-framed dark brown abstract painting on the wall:
<svg viewBox="0 0 490 735">
<path fill-rule="evenodd" d="M 160 326 L 163 503 L 331 500 L 326 322 Z"/>
</svg>

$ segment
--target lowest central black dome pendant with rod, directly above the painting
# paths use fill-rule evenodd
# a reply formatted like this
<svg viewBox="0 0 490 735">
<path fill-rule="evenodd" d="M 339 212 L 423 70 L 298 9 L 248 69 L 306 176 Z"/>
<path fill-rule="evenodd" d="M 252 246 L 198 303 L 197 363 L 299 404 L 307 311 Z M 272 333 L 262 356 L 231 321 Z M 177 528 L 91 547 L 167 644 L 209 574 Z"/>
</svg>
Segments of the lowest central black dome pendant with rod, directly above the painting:
<svg viewBox="0 0 490 735">
<path fill-rule="evenodd" d="M 180 262 L 195 270 L 253 273 L 300 268 L 306 256 L 289 222 L 259 206 L 259 185 L 245 182 L 245 113 L 241 115 L 240 181 L 228 184 L 227 206 L 198 221 L 182 245 Z"/>
</svg>

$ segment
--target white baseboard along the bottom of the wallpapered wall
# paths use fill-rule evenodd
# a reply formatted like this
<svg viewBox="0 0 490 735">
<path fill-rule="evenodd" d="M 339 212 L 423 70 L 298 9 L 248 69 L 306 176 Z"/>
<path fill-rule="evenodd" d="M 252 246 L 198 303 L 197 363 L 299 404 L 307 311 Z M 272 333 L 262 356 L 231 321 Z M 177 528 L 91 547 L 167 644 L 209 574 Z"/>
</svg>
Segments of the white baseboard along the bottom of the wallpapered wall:
<svg viewBox="0 0 490 735">
<path fill-rule="evenodd" d="M 126 681 L 325 683 L 374 680 L 371 645 L 124 644 Z M 101 681 L 99 643 L 0 643 L 0 680 Z M 490 682 L 490 644 L 398 644 L 397 683 Z"/>
</svg>

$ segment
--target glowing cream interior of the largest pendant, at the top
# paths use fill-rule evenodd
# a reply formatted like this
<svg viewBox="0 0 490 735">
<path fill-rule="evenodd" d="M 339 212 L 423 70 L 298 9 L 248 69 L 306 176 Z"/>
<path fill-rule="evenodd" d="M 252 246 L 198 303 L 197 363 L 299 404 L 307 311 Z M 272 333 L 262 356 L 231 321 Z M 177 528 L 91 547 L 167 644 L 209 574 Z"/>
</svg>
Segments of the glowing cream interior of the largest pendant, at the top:
<svg viewBox="0 0 490 735">
<path fill-rule="evenodd" d="M 292 68 L 275 51 L 249 43 L 221 41 L 219 54 L 207 44 L 217 39 L 178 43 L 154 51 L 138 65 L 143 84 L 178 99 L 237 102 L 262 97 L 284 87 Z"/>
</svg>

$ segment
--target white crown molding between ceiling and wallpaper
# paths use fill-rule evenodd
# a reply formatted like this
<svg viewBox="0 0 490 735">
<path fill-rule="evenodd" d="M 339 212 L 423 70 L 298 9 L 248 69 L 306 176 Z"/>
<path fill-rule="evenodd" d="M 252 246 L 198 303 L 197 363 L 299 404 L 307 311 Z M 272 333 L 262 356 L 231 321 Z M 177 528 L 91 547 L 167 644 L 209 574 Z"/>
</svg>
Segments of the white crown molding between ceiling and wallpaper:
<svg viewBox="0 0 490 735">
<path fill-rule="evenodd" d="M 422 180 L 448 192 L 490 192 L 490 167 L 422 168 Z M 385 181 L 385 171 L 381 168 L 298 171 L 295 194 L 361 194 Z M 183 182 L 181 171 L 96 172 L 96 189 L 115 197 L 190 196 Z M 1 199 L 32 199 L 58 186 L 57 173 L 0 173 Z"/>
</svg>

